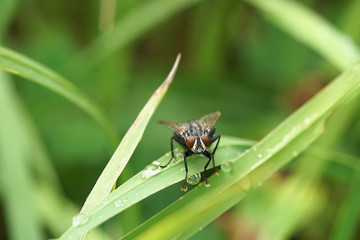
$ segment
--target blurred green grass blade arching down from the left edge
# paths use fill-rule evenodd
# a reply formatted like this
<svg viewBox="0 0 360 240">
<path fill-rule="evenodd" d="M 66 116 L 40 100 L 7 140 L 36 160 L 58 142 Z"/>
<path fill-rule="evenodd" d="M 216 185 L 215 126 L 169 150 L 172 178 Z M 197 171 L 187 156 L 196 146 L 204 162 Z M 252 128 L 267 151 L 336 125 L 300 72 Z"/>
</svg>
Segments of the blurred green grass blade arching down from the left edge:
<svg viewBox="0 0 360 240">
<path fill-rule="evenodd" d="M 0 70 L 34 81 L 71 101 L 92 116 L 104 128 L 112 145 L 116 146 L 115 128 L 103 109 L 80 91 L 73 83 L 47 67 L 10 49 L 0 46 Z"/>
</svg>

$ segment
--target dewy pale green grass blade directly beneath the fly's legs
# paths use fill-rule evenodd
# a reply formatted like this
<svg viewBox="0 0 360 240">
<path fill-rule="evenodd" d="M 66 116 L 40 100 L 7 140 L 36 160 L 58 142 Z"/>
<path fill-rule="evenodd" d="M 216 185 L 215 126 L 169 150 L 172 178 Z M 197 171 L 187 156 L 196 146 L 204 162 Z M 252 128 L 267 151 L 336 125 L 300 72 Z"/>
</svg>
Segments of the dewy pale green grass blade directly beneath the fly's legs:
<svg viewBox="0 0 360 240">
<path fill-rule="evenodd" d="M 253 143 L 252 141 L 223 136 L 217 150 L 217 165 L 235 160 Z M 179 149 L 174 151 L 176 161 L 173 161 L 169 167 L 166 169 L 159 167 L 169 161 L 170 153 L 167 153 L 110 193 L 100 204 L 91 209 L 87 215 L 88 221 L 77 227 L 70 228 L 60 239 L 76 239 L 142 199 L 165 187 L 183 181 L 185 176 L 184 171 L 181 170 L 183 168 L 183 153 Z M 204 164 L 202 160 L 201 156 L 189 159 L 190 176 L 203 170 Z"/>
</svg>

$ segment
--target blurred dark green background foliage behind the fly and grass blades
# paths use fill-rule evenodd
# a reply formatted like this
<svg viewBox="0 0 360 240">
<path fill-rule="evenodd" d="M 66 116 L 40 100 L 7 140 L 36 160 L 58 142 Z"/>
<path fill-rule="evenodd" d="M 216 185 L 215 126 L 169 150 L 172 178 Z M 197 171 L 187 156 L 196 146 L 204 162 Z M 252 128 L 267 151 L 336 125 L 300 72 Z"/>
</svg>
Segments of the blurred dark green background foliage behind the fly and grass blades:
<svg viewBox="0 0 360 240">
<path fill-rule="evenodd" d="M 72 81 L 105 108 L 120 137 L 164 80 L 177 53 L 182 53 L 174 82 L 119 183 L 170 150 L 172 132 L 156 119 L 183 122 L 219 110 L 218 133 L 259 140 L 340 73 L 243 1 L 9 2 L 14 5 L 7 11 L 12 15 L 3 45 Z M 302 2 L 359 43 L 359 21 L 354 17 L 360 14 L 359 1 Z M 0 2 L 0 11 L 6 5 Z M 112 146 L 98 123 L 72 103 L 33 82 L 11 78 L 16 99 L 35 126 L 55 172 L 49 175 L 57 179 L 57 193 L 50 196 L 79 210 L 110 159 Z M 357 120 L 346 121 L 334 149 L 309 153 L 314 161 L 320 155 L 335 160 L 321 169 L 321 180 L 310 204 L 304 203 L 303 217 L 291 229 L 290 239 L 346 239 L 336 238 L 333 229 L 349 189 L 359 183 L 349 179 L 353 166 L 358 166 L 354 156 L 360 153 Z M 350 167 L 337 163 L 343 158 L 349 159 Z M 279 201 L 278 193 L 297 164 L 292 162 L 192 239 L 257 239 L 264 212 Z M 36 167 L 27 168 L 36 185 L 40 182 Z M 103 230 L 110 238 L 121 236 L 181 196 L 179 189 L 177 184 L 146 199 L 104 224 Z M 0 239 L 11 239 L 2 199 Z M 47 238 L 58 237 L 71 225 L 71 218 L 64 218 L 54 229 L 42 213 L 38 215 Z M 359 221 L 351 224 L 355 231 L 348 239 L 358 239 Z"/>
</svg>

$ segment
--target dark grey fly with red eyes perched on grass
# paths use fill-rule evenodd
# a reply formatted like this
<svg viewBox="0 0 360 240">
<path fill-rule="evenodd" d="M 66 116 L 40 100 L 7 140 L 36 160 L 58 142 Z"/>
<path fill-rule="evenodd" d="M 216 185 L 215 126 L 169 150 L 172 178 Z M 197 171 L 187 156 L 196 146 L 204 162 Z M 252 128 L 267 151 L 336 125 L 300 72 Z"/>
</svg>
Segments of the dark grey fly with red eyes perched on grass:
<svg viewBox="0 0 360 240">
<path fill-rule="evenodd" d="M 203 116 L 201 119 L 196 121 L 189 121 L 186 123 L 178 123 L 175 121 L 158 121 L 161 125 L 174 130 L 174 135 L 171 137 L 171 158 L 169 162 L 162 168 L 167 167 L 171 160 L 174 158 L 174 146 L 173 140 L 178 142 L 180 145 L 185 147 L 184 163 L 185 163 L 185 182 L 181 187 L 182 191 L 187 191 L 187 178 L 188 178 L 188 167 L 186 158 L 193 154 L 201 154 L 208 158 L 204 166 L 205 186 L 209 187 L 210 183 L 206 178 L 206 169 L 212 160 L 213 167 L 215 168 L 214 154 L 220 142 L 220 134 L 215 135 L 215 128 L 213 125 L 219 119 L 221 113 L 219 111 Z M 214 150 L 209 152 L 207 148 L 216 141 Z M 216 169 L 216 168 L 215 168 Z M 216 169 L 216 174 L 218 170 Z"/>
</svg>

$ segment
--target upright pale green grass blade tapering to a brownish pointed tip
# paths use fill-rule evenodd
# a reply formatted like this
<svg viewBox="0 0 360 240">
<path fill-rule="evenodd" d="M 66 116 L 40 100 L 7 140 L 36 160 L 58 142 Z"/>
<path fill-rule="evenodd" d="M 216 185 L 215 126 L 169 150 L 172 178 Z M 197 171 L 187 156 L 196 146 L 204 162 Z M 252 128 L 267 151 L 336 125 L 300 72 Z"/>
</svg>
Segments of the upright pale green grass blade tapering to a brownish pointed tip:
<svg viewBox="0 0 360 240">
<path fill-rule="evenodd" d="M 122 139 L 115 153 L 97 180 L 89 197 L 86 199 L 86 202 L 81 210 L 83 214 L 89 214 L 91 209 L 93 209 L 94 206 L 100 203 L 111 192 L 114 184 L 116 183 L 116 180 L 120 176 L 120 173 L 125 168 L 137 144 L 140 142 L 151 116 L 153 115 L 156 107 L 164 97 L 169 85 L 171 84 L 175 76 L 180 57 L 181 55 L 179 54 L 165 81 L 151 96 L 149 101 L 139 113 L 133 125 L 129 128 L 126 135 Z"/>
</svg>

